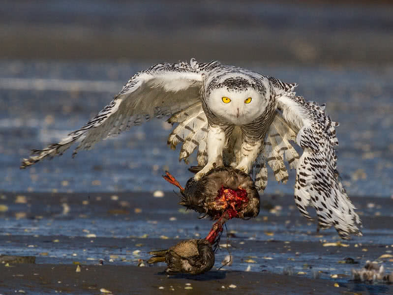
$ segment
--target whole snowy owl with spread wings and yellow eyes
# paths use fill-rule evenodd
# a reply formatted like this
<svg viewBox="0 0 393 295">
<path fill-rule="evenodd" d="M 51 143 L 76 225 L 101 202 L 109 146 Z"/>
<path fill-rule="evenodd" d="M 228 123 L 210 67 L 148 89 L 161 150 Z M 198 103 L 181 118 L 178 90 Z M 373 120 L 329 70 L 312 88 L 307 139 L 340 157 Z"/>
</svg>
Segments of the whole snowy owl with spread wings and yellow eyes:
<svg viewBox="0 0 393 295">
<path fill-rule="evenodd" d="M 306 101 L 287 84 L 261 74 L 212 61 L 160 63 L 135 74 L 112 102 L 82 128 L 59 143 L 33 150 L 21 168 L 62 154 L 76 141 L 79 149 L 139 125 L 150 118 L 170 117 L 178 123 L 168 138 L 181 143 L 180 160 L 197 149 L 200 179 L 215 166 L 227 165 L 251 174 L 259 191 L 267 184 L 267 164 L 277 181 L 286 182 L 296 169 L 295 202 L 311 219 L 313 205 L 319 226 L 334 226 L 342 238 L 362 235 L 359 216 L 336 170 L 337 126 L 324 106 Z M 290 141 L 302 149 L 302 156 Z"/>
</svg>

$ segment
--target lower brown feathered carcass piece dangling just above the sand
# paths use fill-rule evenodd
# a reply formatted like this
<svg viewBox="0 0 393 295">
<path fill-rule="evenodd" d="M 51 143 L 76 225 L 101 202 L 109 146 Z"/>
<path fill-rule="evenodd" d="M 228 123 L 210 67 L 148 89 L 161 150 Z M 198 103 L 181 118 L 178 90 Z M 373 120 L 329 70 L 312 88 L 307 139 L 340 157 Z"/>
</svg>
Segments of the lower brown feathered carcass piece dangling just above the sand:
<svg viewBox="0 0 393 295">
<path fill-rule="evenodd" d="M 152 251 L 148 263 L 165 262 L 168 273 L 199 274 L 210 270 L 214 265 L 212 245 L 206 239 L 190 239 L 160 251 Z"/>
</svg>

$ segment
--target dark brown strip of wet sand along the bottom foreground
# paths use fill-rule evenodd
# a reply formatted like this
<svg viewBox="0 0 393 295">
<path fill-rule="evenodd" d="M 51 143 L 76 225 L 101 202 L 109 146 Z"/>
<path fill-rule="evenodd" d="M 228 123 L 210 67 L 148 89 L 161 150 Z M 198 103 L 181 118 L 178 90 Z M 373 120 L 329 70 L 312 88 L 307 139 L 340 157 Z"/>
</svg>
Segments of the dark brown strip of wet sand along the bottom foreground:
<svg viewBox="0 0 393 295">
<path fill-rule="evenodd" d="M 72 294 L 354 294 L 353 283 L 285 276 L 267 272 L 218 271 L 200 275 L 167 275 L 158 267 L 17 265 L 2 268 L 0 292 L 23 290 Z M 191 288 L 190 288 L 191 287 Z M 9 290 L 6 291 L 6 288 Z M 377 290 L 377 288 L 372 287 Z M 365 289 L 365 288 L 364 288 Z M 357 292 L 358 292 L 357 291 Z M 358 293 L 362 294 L 362 293 Z"/>
</svg>

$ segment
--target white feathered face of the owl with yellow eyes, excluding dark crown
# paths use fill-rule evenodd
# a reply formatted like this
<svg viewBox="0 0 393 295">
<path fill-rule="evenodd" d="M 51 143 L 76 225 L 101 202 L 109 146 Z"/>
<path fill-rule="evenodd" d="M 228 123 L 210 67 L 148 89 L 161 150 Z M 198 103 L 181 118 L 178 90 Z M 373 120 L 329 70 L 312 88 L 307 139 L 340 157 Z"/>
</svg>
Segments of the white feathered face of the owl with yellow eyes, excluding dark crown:
<svg viewBox="0 0 393 295">
<path fill-rule="evenodd" d="M 267 100 L 255 89 L 214 89 L 207 98 L 212 113 L 235 125 L 250 123 L 266 109 Z"/>
</svg>

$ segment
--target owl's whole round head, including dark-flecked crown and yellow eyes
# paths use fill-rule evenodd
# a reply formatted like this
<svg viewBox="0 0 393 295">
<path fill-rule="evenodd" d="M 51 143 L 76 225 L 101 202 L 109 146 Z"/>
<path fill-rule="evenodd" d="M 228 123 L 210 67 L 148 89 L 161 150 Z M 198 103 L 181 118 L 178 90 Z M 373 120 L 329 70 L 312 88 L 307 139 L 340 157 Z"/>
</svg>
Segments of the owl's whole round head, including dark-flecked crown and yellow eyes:
<svg viewBox="0 0 393 295">
<path fill-rule="evenodd" d="M 268 101 L 265 89 L 259 89 L 248 79 L 230 77 L 212 89 L 207 97 L 210 111 L 224 121 L 244 125 L 260 117 Z"/>
</svg>

